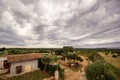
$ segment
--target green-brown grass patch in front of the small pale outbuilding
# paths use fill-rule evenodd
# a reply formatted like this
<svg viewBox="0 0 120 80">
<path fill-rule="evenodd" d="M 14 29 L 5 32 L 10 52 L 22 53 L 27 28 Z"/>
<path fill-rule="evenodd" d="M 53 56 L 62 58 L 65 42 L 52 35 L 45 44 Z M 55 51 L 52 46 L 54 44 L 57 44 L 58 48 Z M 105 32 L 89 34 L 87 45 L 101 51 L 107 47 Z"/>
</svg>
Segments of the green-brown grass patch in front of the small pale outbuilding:
<svg viewBox="0 0 120 80">
<path fill-rule="evenodd" d="M 47 77 L 49 77 L 49 75 L 46 72 L 37 70 L 23 75 L 19 75 L 17 77 L 11 77 L 7 80 L 43 80 Z"/>
</svg>

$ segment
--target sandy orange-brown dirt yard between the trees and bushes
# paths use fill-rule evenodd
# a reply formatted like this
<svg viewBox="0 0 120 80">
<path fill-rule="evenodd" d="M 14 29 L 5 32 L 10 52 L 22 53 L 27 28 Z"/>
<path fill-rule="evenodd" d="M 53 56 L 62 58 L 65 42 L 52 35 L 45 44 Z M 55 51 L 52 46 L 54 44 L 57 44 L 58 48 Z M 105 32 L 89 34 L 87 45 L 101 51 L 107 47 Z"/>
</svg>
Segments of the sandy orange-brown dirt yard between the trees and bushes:
<svg viewBox="0 0 120 80">
<path fill-rule="evenodd" d="M 85 57 L 82 56 L 83 61 L 79 62 L 80 66 L 75 67 L 75 66 L 67 66 L 65 61 L 61 61 L 61 67 L 65 69 L 64 71 L 64 80 L 83 80 L 82 77 L 86 78 L 83 76 L 82 73 L 84 73 L 85 66 L 87 66 L 88 61 L 85 60 Z M 68 60 L 69 62 L 69 60 Z M 82 70 L 82 71 L 81 71 Z"/>
</svg>

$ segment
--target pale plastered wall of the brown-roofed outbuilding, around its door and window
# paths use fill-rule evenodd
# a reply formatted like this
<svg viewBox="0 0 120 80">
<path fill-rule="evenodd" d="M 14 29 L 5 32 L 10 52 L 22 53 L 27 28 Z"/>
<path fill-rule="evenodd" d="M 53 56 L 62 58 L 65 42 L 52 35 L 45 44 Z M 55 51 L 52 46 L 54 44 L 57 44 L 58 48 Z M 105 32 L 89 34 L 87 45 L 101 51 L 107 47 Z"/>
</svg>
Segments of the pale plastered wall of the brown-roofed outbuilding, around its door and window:
<svg viewBox="0 0 120 80">
<path fill-rule="evenodd" d="M 31 65 L 31 70 L 36 70 L 38 69 L 38 59 L 11 63 L 10 74 L 16 74 L 16 66 L 22 66 L 22 72 L 24 72 L 26 65 Z"/>
</svg>

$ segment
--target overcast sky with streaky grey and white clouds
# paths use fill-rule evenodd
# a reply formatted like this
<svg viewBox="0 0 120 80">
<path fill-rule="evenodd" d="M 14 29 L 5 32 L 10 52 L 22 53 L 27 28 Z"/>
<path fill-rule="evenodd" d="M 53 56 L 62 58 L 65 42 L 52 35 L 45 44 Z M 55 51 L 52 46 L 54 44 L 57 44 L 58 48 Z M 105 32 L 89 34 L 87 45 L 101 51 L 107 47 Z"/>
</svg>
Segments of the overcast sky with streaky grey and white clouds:
<svg viewBox="0 0 120 80">
<path fill-rule="evenodd" d="M 120 47 L 120 0 L 0 0 L 0 47 Z"/>
</svg>

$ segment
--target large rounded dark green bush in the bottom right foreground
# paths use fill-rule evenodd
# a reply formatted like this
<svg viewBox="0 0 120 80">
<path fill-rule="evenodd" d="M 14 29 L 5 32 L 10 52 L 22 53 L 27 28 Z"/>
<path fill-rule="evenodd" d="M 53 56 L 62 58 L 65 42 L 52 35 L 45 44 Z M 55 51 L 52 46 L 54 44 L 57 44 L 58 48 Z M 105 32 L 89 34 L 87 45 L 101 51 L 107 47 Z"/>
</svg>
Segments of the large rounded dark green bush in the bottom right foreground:
<svg viewBox="0 0 120 80">
<path fill-rule="evenodd" d="M 86 66 L 85 72 L 87 80 L 116 80 L 107 68 L 108 67 L 101 62 L 95 62 Z"/>
</svg>

